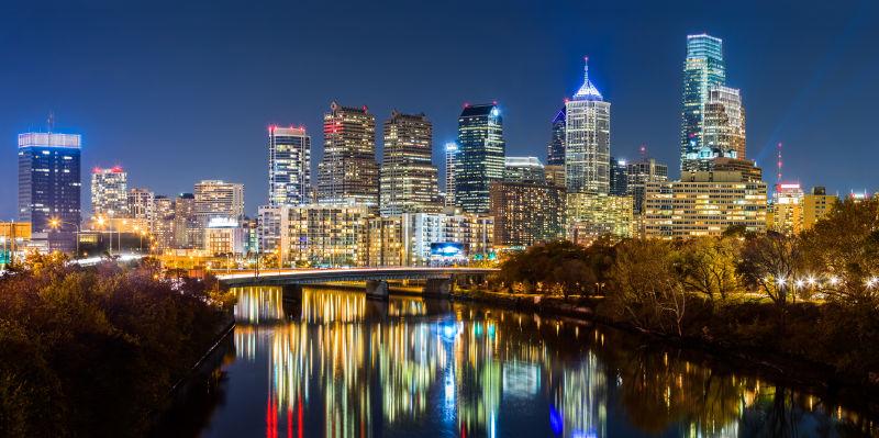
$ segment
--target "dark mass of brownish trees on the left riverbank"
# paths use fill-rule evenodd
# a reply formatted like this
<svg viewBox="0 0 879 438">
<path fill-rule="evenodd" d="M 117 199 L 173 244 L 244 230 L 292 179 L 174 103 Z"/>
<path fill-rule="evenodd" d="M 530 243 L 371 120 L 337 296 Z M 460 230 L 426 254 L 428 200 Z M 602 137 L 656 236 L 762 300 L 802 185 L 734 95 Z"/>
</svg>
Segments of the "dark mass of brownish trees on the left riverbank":
<svg viewBox="0 0 879 438">
<path fill-rule="evenodd" d="M 140 436 L 212 345 L 232 302 L 158 265 L 30 256 L 0 278 L 0 435 Z"/>
</svg>

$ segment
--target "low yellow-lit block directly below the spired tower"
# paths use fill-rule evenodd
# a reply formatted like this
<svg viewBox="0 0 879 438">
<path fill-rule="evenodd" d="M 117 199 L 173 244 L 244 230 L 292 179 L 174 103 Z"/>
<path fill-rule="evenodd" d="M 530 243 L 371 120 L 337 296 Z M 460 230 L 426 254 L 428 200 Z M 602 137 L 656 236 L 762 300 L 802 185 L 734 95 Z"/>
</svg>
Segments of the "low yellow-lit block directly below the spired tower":
<svg viewBox="0 0 879 438">
<path fill-rule="evenodd" d="M 578 245 L 591 245 L 601 236 L 634 235 L 632 196 L 568 193 L 566 212 L 568 239 Z"/>
</svg>

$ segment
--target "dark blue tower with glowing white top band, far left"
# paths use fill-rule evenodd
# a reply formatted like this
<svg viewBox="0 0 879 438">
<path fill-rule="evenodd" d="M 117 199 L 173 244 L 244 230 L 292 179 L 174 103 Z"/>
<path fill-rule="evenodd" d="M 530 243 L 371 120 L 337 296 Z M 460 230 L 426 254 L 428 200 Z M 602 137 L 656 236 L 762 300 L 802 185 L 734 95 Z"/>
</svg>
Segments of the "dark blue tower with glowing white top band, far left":
<svg viewBox="0 0 879 438">
<path fill-rule="evenodd" d="M 80 136 L 19 134 L 19 217 L 34 233 L 76 232 L 80 223 Z M 70 239 L 70 242 L 74 242 Z"/>
</svg>

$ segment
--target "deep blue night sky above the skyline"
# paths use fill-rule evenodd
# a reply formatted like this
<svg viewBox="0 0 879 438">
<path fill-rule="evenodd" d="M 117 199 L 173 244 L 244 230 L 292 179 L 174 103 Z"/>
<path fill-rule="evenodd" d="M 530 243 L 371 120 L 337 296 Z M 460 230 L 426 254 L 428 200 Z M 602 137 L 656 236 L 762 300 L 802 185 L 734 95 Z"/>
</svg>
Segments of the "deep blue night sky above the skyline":
<svg viewBox="0 0 879 438">
<path fill-rule="evenodd" d="M 669 4 L 667 4 L 669 3 Z M 724 40 L 747 149 L 775 182 L 879 189 L 879 2 L 5 1 L 0 7 L 0 218 L 15 216 L 16 134 L 82 134 L 87 172 L 130 187 L 243 182 L 267 199 L 266 127 L 304 125 L 320 158 L 330 101 L 434 124 L 434 162 L 465 102 L 497 100 L 508 155 L 545 160 L 549 122 L 582 79 L 611 106 L 612 155 L 639 144 L 677 175 L 686 36 Z M 379 142 L 380 145 L 380 142 Z"/>
</svg>

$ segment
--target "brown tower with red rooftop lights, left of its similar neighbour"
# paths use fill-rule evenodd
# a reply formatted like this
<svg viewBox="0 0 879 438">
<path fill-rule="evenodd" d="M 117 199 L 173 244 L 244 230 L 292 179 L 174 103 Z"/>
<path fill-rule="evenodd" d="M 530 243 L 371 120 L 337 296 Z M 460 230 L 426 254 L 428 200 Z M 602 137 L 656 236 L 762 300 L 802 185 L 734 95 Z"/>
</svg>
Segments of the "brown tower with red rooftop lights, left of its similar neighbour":
<svg viewBox="0 0 879 438">
<path fill-rule="evenodd" d="M 378 205 L 376 117 L 366 106 L 336 102 L 323 115 L 323 158 L 318 165 L 318 202 Z"/>
</svg>

